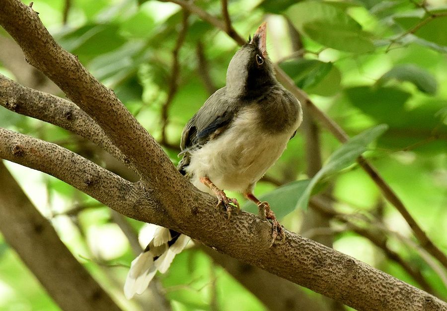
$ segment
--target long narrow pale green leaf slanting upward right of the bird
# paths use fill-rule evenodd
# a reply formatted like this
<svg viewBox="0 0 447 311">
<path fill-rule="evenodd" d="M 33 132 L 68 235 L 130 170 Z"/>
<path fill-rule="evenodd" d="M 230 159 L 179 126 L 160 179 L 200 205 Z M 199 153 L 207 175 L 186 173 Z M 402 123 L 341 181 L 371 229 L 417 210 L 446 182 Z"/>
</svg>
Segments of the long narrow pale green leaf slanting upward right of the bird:
<svg viewBox="0 0 447 311">
<path fill-rule="evenodd" d="M 307 187 L 300 196 L 297 207 L 305 209 L 309 201 L 310 194 L 315 185 L 323 178 L 334 174 L 348 165 L 352 164 L 361 154 L 363 154 L 368 144 L 373 142 L 388 128 L 387 125 L 381 124 L 350 138 L 345 144 L 337 149 L 327 160 L 326 164 L 315 174 L 310 180 Z"/>
</svg>

